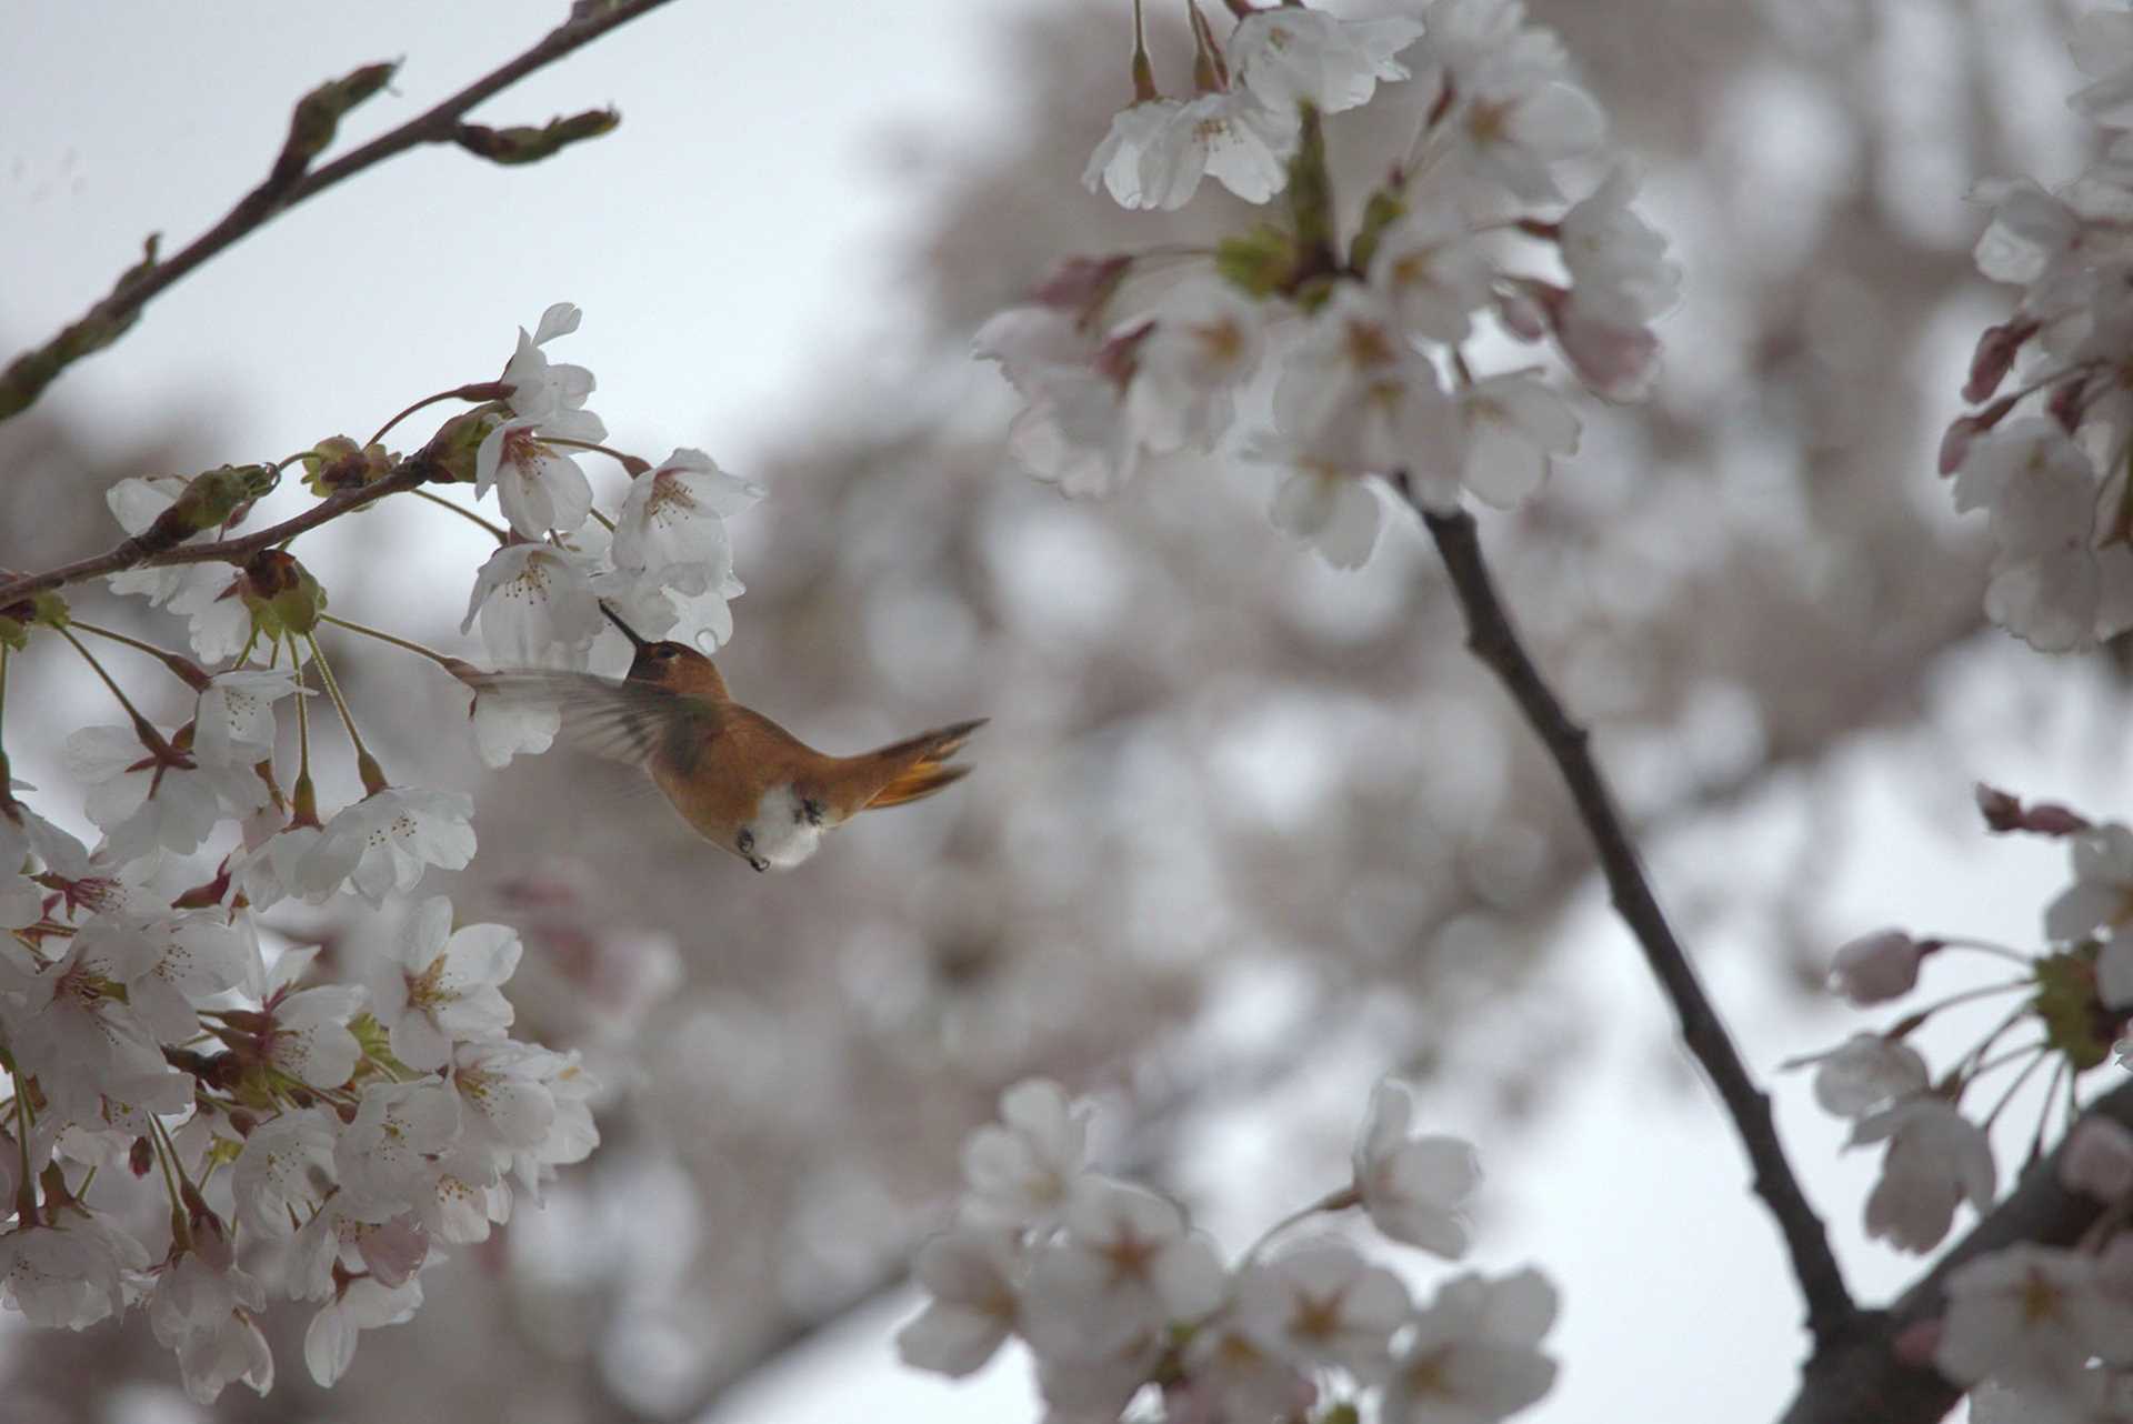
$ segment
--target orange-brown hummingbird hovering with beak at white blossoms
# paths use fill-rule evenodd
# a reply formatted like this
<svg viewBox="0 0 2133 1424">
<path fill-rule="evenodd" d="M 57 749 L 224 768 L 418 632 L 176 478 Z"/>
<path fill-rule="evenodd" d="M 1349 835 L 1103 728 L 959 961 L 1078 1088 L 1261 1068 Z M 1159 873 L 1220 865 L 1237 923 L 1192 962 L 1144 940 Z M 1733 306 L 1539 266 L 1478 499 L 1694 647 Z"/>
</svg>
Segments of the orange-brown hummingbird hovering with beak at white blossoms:
<svg viewBox="0 0 2133 1424">
<path fill-rule="evenodd" d="M 695 648 L 638 635 L 606 601 L 599 612 L 636 648 L 627 678 L 506 671 L 478 684 L 555 703 L 572 742 L 644 767 L 704 840 L 753 870 L 791 870 L 857 812 L 919 802 L 971 772 L 945 763 L 985 718 L 832 757 L 734 701 Z"/>
</svg>

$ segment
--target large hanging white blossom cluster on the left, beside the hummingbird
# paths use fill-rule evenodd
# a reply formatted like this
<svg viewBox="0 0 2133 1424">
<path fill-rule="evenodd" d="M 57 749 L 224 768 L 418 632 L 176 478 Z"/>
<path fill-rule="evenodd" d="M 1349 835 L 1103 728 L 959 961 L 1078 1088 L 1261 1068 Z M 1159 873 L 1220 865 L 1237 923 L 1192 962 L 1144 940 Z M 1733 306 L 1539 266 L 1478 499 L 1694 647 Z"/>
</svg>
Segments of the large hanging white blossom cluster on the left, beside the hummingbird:
<svg viewBox="0 0 2133 1424">
<path fill-rule="evenodd" d="M 508 524 L 491 527 L 467 612 L 497 663 L 584 667 L 602 599 L 646 633 L 727 637 L 725 516 L 759 490 L 695 450 L 651 465 L 599 446 L 593 375 L 544 352 L 576 324 L 550 307 L 501 379 L 437 397 L 480 405 L 416 454 L 386 452 L 382 431 L 275 467 L 119 482 L 109 505 L 143 563 L 109 582 L 181 614 L 192 657 L 53 595 L 0 608 L 0 697 L 11 652 L 49 637 L 124 712 L 62 748 L 94 848 L 32 808 L 0 753 L 0 1300 L 75 1330 L 145 1305 L 203 1403 L 232 1379 L 267 1392 L 271 1300 L 311 1307 L 305 1364 L 331 1386 L 363 1330 L 416 1311 L 444 1247 L 488 1239 L 599 1140 L 576 1051 L 512 1036 L 518 932 L 414 900 L 429 870 L 471 861 L 471 797 L 386 776 L 322 635 L 382 640 L 465 689 L 478 669 L 328 614 L 288 548 L 301 529 L 218 556 L 286 467 L 348 505 L 386 480 L 465 484 Z M 578 465 L 589 450 L 631 475 L 612 518 Z M 147 561 L 173 550 L 183 561 Z M 158 659 L 188 716 L 145 716 L 87 637 Z M 486 701 L 469 721 L 491 765 L 557 733 L 552 710 Z M 314 778 L 320 716 L 360 782 L 337 810 Z M 354 908 L 352 929 L 311 942 L 273 915 L 284 902 Z"/>
</svg>

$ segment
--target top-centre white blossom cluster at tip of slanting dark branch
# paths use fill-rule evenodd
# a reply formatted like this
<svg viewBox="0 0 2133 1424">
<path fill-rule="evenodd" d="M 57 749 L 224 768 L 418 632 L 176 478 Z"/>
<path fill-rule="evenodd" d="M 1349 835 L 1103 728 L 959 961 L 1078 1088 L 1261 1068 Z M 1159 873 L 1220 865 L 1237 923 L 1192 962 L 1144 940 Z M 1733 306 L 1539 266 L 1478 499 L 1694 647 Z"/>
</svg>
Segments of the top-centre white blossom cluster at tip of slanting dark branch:
<svg viewBox="0 0 2133 1424">
<path fill-rule="evenodd" d="M 1482 341 L 1553 339 L 1589 390 L 1640 399 L 1679 269 L 1523 0 L 1378 21 L 1244 9 L 1226 41 L 1192 9 L 1190 100 L 1154 90 L 1137 45 L 1137 100 L 1084 181 L 1162 209 L 1203 177 L 1250 203 L 1286 190 L 1284 217 L 1205 249 L 1069 262 L 977 352 L 1026 401 L 1017 460 L 1077 497 L 1118 490 L 1152 454 L 1216 450 L 1256 399 L 1271 422 L 1237 450 L 1276 471 L 1273 522 L 1359 567 L 1382 522 L 1374 480 L 1436 512 L 1465 492 L 1512 507 L 1576 450 L 1578 416 L 1538 367 L 1476 375 Z M 1344 239 L 1322 117 L 1410 79 L 1425 117 Z"/>
</svg>

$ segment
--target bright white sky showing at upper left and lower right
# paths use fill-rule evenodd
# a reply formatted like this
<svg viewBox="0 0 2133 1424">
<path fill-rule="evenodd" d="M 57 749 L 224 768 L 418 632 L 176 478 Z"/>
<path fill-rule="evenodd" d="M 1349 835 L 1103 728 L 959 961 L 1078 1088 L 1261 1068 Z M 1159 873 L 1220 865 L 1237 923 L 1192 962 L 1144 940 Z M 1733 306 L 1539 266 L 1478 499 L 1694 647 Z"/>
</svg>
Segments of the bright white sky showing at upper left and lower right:
<svg viewBox="0 0 2133 1424">
<path fill-rule="evenodd" d="M 113 443 L 124 431 L 111 422 L 194 416 L 224 437 L 215 458 L 277 458 L 324 433 L 363 435 L 412 397 L 491 377 L 514 328 L 567 298 L 587 309 L 587 324 L 559 356 L 599 373 L 595 405 L 621 443 L 653 456 L 700 443 L 747 471 L 785 420 L 819 409 L 823 382 L 864 365 L 866 350 L 896 350 L 898 239 L 928 194 L 887 153 L 907 134 L 947 151 L 990 141 L 1013 113 L 994 36 L 1003 15 L 1035 2 L 680 0 L 471 115 L 538 124 L 612 102 L 623 126 L 608 139 L 518 171 L 446 147 L 384 164 L 160 296 L 132 335 L 70 369 L 45 405 L 79 428 L 111 428 Z M 137 258 L 145 232 L 160 228 L 164 252 L 175 252 L 213 222 L 264 173 L 292 100 L 318 81 L 407 58 L 399 96 L 360 109 L 346 149 L 516 53 L 561 11 L 561 0 L 17 9 L 0 41 L 0 345 L 41 341 L 79 315 Z M 484 548 L 471 531 L 454 546 L 448 520 L 420 527 L 439 561 L 471 567 Z M 740 618 L 744 627 L 744 605 Z M 1881 923 L 2018 944 L 2035 932 L 2063 855 L 1977 836 L 1967 819 L 1973 776 L 2092 808 L 2124 802 L 2124 765 L 2099 750 L 2107 738 L 2097 729 L 2112 725 L 2092 712 L 2103 693 L 2084 669 L 2016 650 L 1988 654 L 1984 669 L 1990 676 L 1950 691 L 1950 706 L 1992 708 L 2020 678 L 2065 689 L 2065 706 L 2090 712 L 2035 725 L 1956 714 L 1945 742 L 1883 742 L 1847 759 L 1843 804 L 1862 838 L 1819 897 L 1832 944 Z M 9 731 L 30 738 L 17 770 L 51 776 L 66 729 L 47 725 L 38 744 L 36 723 L 17 716 Z M 2024 742 L 2035 750 L 2014 750 Z M 1945 795 L 1932 804 L 1905 799 L 1915 797 L 1905 787 L 1926 780 L 1920 757 L 1945 767 Z M 1687 885 L 1723 865 L 1781 861 L 1800 834 L 1815 834 L 1802 825 L 1800 797 L 1779 787 L 1736 816 L 1689 827 L 1653 855 L 1662 900 L 1679 904 Z M 1591 1053 L 1561 1064 L 1572 1087 L 1517 1136 L 1455 1087 L 1442 1096 L 1444 1126 L 1480 1140 L 1491 1168 L 1482 1264 L 1536 1260 L 1563 1290 L 1555 1345 L 1566 1373 L 1529 1418 L 1768 1418 L 1800 1349 L 1796 1294 L 1775 1232 L 1745 1194 L 1738 1149 L 1662 1047 L 1657 996 L 1602 908 L 1593 897 L 1561 955 L 1598 1019 Z M 1834 1013 L 1768 1008 L 1775 974 L 1755 961 L 1768 944 L 1753 925 L 1719 917 L 1696 944 L 1758 1072 L 1851 1032 Z M 1937 964 L 1928 983 L 1967 974 L 1971 966 Z M 1239 1002 L 1250 998 L 1244 985 Z M 1504 1034 L 1519 1030 L 1510 1006 Z M 1346 1134 L 1372 1072 L 1329 1055 L 1286 1106 Z M 1873 1162 L 1834 1162 L 1839 1134 L 1815 1115 L 1802 1079 L 1777 1081 L 1777 1098 L 1854 1283 L 1864 1298 L 1886 1294 L 1915 1266 L 1860 1239 Z M 2009 1140 L 2009 1175 L 2018 1153 Z M 1252 1221 L 1331 1185 L 1288 1181 L 1265 1123 L 1212 1132 L 1203 1177 L 1194 1185 L 1224 1198 L 1214 1226 L 1231 1247 L 1248 1241 Z M 1263 1200 L 1252 1190 L 1261 1183 Z M 1436 1275 L 1416 1279 L 1427 1290 Z M 725 1418 L 843 1424 L 864 1398 L 870 1418 L 1035 1422 L 1020 1356 L 973 1386 L 896 1369 L 887 1332 L 904 1309 L 855 1322 Z"/>
</svg>

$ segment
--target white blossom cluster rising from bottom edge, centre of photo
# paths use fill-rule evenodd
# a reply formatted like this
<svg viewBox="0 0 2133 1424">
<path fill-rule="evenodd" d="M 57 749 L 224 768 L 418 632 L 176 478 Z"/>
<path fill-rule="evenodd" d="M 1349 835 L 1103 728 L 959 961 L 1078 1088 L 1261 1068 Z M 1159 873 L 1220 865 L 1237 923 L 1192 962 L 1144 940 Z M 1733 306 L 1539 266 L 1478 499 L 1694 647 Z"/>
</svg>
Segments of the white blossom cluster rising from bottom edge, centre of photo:
<svg viewBox="0 0 2133 1424">
<path fill-rule="evenodd" d="M 1487 1424 L 1555 1381 L 1540 1349 L 1555 1288 L 1538 1271 L 1465 1273 L 1418 1305 L 1406 1281 L 1342 1236 L 1278 1241 L 1361 1207 L 1393 1241 L 1453 1260 L 1480 1183 L 1474 1149 L 1416 1134 L 1414 1100 L 1380 1083 L 1354 1177 L 1267 1232 L 1241 1260 L 1148 1187 L 1090 1170 L 1088 1106 L 1032 1079 L 964 1143 L 956 1224 L 926 1243 L 926 1309 L 898 1334 L 909 1364 L 968 1375 L 1022 1339 L 1062 1424 L 1135 1418 L 1278 1424 L 1357 1418 Z"/>
</svg>

